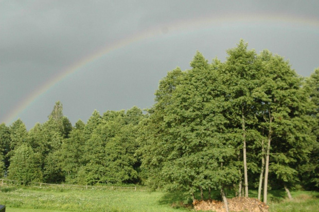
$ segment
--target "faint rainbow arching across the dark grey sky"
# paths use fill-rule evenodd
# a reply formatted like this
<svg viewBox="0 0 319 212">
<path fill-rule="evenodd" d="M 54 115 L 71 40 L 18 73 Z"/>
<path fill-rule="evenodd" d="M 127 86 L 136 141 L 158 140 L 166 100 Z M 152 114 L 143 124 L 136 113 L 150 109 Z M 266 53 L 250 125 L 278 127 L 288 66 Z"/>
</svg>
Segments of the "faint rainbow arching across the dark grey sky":
<svg viewBox="0 0 319 212">
<path fill-rule="evenodd" d="M 4 122 L 9 124 L 13 120 L 19 117 L 32 102 L 36 101 L 41 97 L 42 94 L 48 92 L 52 87 L 57 85 L 60 81 L 68 78 L 70 75 L 75 74 L 81 67 L 87 66 L 90 63 L 98 60 L 104 55 L 110 54 L 116 49 L 125 48 L 131 44 L 149 39 L 160 37 L 164 33 L 169 34 L 179 34 L 183 32 L 194 32 L 200 29 L 209 29 L 211 27 L 229 27 L 234 26 L 251 26 L 259 24 L 272 24 L 280 25 L 282 24 L 290 25 L 291 27 L 308 27 L 310 30 L 319 31 L 319 19 L 317 17 L 304 17 L 304 16 L 293 16 L 285 14 L 233 14 L 227 15 L 214 15 L 214 16 L 203 16 L 198 19 L 192 20 L 180 20 L 177 22 L 162 24 L 156 27 L 149 28 L 144 31 L 140 31 L 136 34 L 112 43 L 111 45 L 105 45 L 104 47 L 98 49 L 91 55 L 87 55 L 81 58 L 79 61 L 74 62 L 72 65 L 64 68 L 61 74 L 51 78 L 40 86 L 36 91 L 26 96 L 22 99 L 15 108 L 13 108 L 4 118 Z M 239 38 L 238 38 L 239 39 Z"/>
</svg>

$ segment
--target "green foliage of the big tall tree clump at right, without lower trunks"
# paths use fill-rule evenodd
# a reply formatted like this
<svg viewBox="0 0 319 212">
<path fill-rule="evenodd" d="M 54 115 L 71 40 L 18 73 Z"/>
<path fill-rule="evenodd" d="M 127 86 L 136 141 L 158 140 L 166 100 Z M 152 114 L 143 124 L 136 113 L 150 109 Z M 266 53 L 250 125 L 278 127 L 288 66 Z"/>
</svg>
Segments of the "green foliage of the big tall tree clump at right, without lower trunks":
<svg viewBox="0 0 319 212">
<path fill-rule="evenodd" d="M 160 81 L 149 117 L 139 125 L 137 153 L 149 186 L 187 194 L 232 186 L 245 157 L 255 181 L 262 149 L 270 151 L 270 181 L 281 187 L 299 181 L 317 126 L 302 79 L 282 57 L 268 50 L 257 55 L 243 40 L 227 54 L 224 63 L 208 64 L 197 52 L 191 70 L 176 68 Z M 262 145 L 268 141 L 271 146 Z"/>
</svg>

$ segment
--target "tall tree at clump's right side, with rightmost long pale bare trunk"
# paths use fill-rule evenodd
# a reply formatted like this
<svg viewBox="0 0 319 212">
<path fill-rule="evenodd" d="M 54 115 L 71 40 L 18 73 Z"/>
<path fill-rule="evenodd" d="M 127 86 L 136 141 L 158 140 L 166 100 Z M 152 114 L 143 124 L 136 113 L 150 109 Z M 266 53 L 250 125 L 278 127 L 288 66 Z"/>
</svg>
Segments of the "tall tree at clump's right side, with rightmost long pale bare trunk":
<svg viewBox="0 0 319 212">
<path fill-rule="evenodd" d="M 261 126 L 268 135 L 263 187 L 263 202 L 267 203 L 271 151 L 275 162 L 272 170 L 277 176 L 286 175 L 286 178 L 281 177 L 285 181 L 293 173 L 289 164 L 306 155 L 308 150 L 304 151 L 303 147 L 306 147 L 311 138 L 307 136 L 309 128 L 304 125 L 307 97 L 300 89 L 300 78 L 282 57 L 273 56 L 268 50 L 262 51 L 259 57 L 264 69 L 262 83 L 255 95 L 263 107 L 258 115 L 262 121 Z M 286 167 L 286 171 L 282 171 L 283 167 Z"/>
</svg>

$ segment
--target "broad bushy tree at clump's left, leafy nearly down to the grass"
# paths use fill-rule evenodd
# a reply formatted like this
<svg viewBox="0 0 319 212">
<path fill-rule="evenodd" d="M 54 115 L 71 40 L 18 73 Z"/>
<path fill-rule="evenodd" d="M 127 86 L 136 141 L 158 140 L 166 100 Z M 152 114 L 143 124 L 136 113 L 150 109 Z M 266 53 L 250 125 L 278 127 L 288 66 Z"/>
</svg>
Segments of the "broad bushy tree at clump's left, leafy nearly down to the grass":
<svg viewBox="0 0 319 212">
<path fill-rule="evenodd" d="M 157 102 L 142 126 L 149 130 L 141 136 L 147 140 L 141 151 L 150 179 L 162 181 L 169 190 L 182 189 L 194 200 L 197 190 L 217 188 L 224 193 L 223 187 L 236 179 L 237 168 L 234 148 L 225 137 L 225 87 L 216 71 L 221 63 L 216 60 L 210 66 L 197 52 L 190 65 L 191 70 L 173 70 L 160 82 Z"/>
</svg>

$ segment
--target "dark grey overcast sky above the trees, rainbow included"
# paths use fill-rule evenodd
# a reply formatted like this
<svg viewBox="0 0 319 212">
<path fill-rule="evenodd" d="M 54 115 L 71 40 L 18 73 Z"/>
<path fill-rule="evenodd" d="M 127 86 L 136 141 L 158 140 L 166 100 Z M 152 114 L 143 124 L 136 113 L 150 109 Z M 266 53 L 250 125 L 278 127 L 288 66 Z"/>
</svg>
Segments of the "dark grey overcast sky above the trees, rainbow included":
<svg viewBox="0 0 319 212">
<path fill-rule="evenodd" d="M 319 66 L 319 1 L 0 0 L 0 123 L 74 123 L 97 109 L 149 108 L 158 81 L 196 50 L 225 60 L 243 38 L 299 75 Z"/>
</svg>

